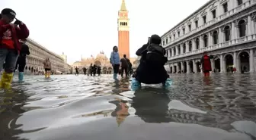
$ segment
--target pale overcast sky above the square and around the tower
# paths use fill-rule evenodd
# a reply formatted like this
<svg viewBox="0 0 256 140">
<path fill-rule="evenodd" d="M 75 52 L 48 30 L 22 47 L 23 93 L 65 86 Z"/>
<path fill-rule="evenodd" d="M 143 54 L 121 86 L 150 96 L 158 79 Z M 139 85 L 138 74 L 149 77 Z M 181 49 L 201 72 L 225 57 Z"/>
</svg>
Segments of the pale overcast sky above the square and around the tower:
<svg viewBox="0 0 256 140">
<path fill-rule="evenodd" d="M 126 0 L 130 17 L 130 55 L 209 0 Z M 69 64 L 118 45 L 117 14 L 122 0 L 0 0 L 27 24 L 30 38 L 56 54 L 68 55 Z"/>
</svg>

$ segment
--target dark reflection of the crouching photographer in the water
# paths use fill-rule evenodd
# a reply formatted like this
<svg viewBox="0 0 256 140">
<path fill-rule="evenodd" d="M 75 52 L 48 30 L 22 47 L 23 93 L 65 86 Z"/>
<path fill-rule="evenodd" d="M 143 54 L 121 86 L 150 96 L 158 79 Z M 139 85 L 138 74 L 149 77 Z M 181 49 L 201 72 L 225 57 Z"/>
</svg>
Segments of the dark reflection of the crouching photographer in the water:
<svg viewBox="0 0 256 140">
<path fill-rule="evenodd" d="M 159 94 L 159 91 L 154 92 L 154 90 L 156 89 L 136 90 L 131 107 L 136 110 L 135 114 L 146 123 L 168 123 L 171 121 L 167 118 L 170 99 L 166 93 Z"/>
</svg>

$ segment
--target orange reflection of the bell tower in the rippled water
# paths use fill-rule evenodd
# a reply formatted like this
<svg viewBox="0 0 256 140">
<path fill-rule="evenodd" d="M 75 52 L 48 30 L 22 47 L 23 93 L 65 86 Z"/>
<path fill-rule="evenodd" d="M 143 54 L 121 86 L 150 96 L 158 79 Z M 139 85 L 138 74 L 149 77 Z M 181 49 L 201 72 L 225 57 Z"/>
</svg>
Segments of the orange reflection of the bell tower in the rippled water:
<svg viewBox="0 0 256 140">
<path fill-rule="evenodd" d="M 111 113 L 112 117 L 116 117 L 117 124 L 120 126 L 121 123 L 129 116 L 127 101 L 117 99 L 116 101 L 110 101 L 110 103 L 117 105 L 117 108 Z"/>
</svg>

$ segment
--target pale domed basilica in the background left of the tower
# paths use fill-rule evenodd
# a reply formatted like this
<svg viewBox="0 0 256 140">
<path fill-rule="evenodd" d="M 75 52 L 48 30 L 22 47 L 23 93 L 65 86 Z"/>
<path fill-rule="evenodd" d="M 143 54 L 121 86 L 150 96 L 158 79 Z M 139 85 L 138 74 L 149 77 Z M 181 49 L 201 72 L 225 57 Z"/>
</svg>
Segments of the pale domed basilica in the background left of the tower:
<svg viewBox="0 0 256 140">
<path fill-rule="evenodd" d="M 92 55 L 90 58 L 82 58 L 81 61 L 76 61 L 72 64 L 73 69 L 78 67 L 79 70 L 82 70 L 82 67 L 90 67 L 90 64 L 100 65 L 102 73 L 107 73 L 107 71 L 112 72 L 112 65 L 110 64 L 110 59 L 104 54 L 103 51 L 100 54 L 97 54 L 96 58 Z"/>
</svg>

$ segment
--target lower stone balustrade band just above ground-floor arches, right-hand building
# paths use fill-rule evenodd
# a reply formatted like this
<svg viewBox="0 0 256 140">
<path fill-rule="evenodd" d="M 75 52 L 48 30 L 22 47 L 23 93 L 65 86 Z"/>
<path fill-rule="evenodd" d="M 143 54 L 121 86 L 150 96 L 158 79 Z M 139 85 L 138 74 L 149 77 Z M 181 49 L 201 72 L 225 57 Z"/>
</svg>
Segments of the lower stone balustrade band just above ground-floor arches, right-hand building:
<svg viewBox="0 0 256 140">
<path fill-rule="evenodd" d="M 168 61 L 178 59 L 178 58 L 185 58 L 185 57 L 188 57 L 190 55 L 202 54 L 203 51 L 213 51 L 213 50 L 216 50 L 216 49 L 226 48 L 226 47 L 229 47 L 229 46 L 232 46 L 232 45 L 238 45 L 238 44 L 242 44 L 242 43 L 250 42 L 250 41 L 256 41 L 256 34 L 241 37 L 241 38 L 238 38 L 238 39 L 233 39 L 233 40 L 230 40 L 230 41 L 227 41 L 227 42 L 221 42 L 221 43 L 216 44 L 216 45 L 210 45 L 210 46 L 205 47 L 205 48 L 199 48 L 197 50 L 193 50 L 193 51 L 190 51 L 190 52 L 186 52 L 184 54 L 176 55 L 176 56 L 173 56 L 171 58 L 168 57 Z"/>
</svg>

